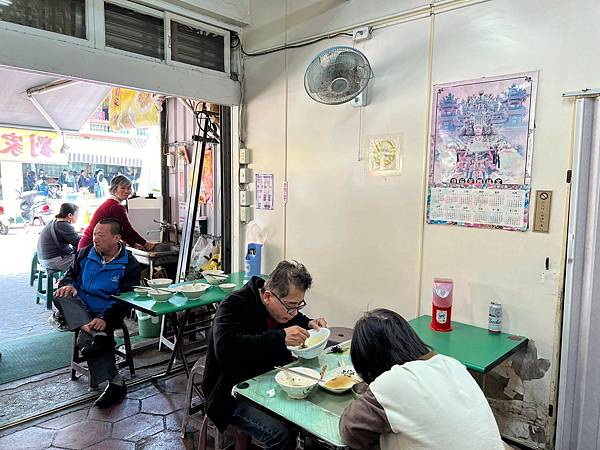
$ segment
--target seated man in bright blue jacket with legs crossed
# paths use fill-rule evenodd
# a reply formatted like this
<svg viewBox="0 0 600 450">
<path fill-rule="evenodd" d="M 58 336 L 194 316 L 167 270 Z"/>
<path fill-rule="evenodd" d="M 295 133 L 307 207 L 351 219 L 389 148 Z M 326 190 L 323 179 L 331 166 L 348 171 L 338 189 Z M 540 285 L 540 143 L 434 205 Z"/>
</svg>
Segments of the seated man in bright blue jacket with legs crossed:
<svg viewBox="0 0 600 450">
<path fill-rule="evenodd" d="M 121 243 L 119 221 L 103 219 L 94 227 L 93 244 L 77 252 L 56 290 L 54 304 L 63 313 L 69 330 L 81 331 L 77 345 L 87 359 L 90 384 L 109 381 L 94 403 L 99 408 L 108 408 L 127 395 L 115 365 L 113 331 L 129 309 L 111 295 L 133 290 L 140 274 L 138 262 Z"/>
</svg>

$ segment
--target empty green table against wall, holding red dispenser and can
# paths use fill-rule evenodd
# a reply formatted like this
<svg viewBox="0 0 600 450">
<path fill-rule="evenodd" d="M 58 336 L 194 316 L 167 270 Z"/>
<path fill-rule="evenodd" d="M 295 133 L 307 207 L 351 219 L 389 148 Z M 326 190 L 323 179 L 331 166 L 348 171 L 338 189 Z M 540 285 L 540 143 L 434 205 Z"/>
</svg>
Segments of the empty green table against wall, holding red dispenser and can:
<svg viewBox="0 0 600 450">
<path fill-rule="evenodd" d="M 431 316 L 409 321 L 423 341 L 442 355 L 451 356 L 467 369 L 485 374 L 527 344 L 527 338 L 512 334 L 492 334 L 487 329 L 452 322 L 452 331 L 440 332 L 429 327 Z"/>
</svg>

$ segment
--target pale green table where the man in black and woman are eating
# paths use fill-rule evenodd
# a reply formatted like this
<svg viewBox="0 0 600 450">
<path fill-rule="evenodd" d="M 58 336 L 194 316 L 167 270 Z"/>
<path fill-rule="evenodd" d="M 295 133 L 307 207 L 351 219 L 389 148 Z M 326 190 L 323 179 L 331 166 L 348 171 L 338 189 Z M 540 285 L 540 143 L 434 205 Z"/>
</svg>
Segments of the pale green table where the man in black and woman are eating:
<svg viewBox="0 0 600 450">
<path fill-rule="evenodd" d="M 338 367 L 340 360 L 348 366 L 352 365 L 349 352 L 346 351 L 342 354 L 322 353 L 318 358 L 309 360 L 299 359 L 286 367 L 310 367 L 318 372 L 325 364 L 328 369 Z M 306 399 L 291 399 L 275 381 L 277 372 L 279 370 L 276 369 L 251 378 L 246 381 L 247 387 L 243 387 L 244 383 L 238 384 L 233 388 L 233 395 L 285 419 L 330 448 L 347 448 L 338 425 L 344 408 L 353 399 L 351 391 L 332 394 L 317 386 Z"/>
</svg>

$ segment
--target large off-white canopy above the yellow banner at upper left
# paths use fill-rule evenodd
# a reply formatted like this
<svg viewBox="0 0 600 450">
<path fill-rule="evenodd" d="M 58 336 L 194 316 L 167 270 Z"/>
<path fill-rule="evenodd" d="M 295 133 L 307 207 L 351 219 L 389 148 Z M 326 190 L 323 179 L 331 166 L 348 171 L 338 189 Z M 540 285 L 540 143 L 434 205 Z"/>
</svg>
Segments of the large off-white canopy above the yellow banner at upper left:
<svg viewBox="0 0 600 450">
<path fill-rule="evenodd" d="M 61 78 L 0 67 L 0 126 L 50 129 L 26 91 L 58 80 Z M 81 81 L 35 98 L 61 130 L 79 131 L 109 92 L 110 86 Z"/>
</svg>

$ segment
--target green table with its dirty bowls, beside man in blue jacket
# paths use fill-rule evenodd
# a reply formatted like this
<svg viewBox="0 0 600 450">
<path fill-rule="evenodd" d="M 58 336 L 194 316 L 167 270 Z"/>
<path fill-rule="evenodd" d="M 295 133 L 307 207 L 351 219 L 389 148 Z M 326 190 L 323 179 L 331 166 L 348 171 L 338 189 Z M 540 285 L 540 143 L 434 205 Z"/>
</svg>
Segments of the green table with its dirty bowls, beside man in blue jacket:
<svg viewBox="0 0 600 450">
<path fill-rule="evenodd" d="M 153 317 L 165 316 L 170 321 L 175 335 L 171 358 L 164 373 L 156 378 L 172 373 L 175 358 L 179 355 L 183 368 L 189 375 L 189 366 L 183 351 L 183 332 L 188 323 L 189 313 L 193 309 L 220 303 L 230 292 L 244 285 L 244 272 L 220 276 L 215 274 L 205 280 L 186 281 L 171 284 L 169 279 L 148 280 L 154 288 L 136 288 L 134 292 L 125 292 L 113 298 L 125 306 L 144 312 Z M 162 282 L 161 282 L 162 281 Z M 178 317 L 178 312 L 182 312 Z"/>
</svg>

